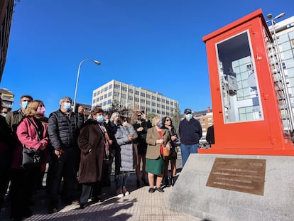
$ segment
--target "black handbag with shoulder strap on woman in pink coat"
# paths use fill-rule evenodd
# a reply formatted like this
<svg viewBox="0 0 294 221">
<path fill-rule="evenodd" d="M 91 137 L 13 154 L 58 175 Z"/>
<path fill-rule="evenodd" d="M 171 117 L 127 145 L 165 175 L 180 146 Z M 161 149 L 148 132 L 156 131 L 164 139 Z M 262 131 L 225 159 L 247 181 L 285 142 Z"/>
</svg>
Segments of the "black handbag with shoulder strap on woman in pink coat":
<svg viewBox="0 0 294 221">
<path fill-rule="evenodd" d="M 33 122 L 31 122 L 31 119 L 28 119 L 28 122 L 30 122 L 33 127 L 36 130 L 36 133 L 38 135 L 38 141 L 40 141 L 40 131 L 38 131 L 37 127 Z M 23 168 L 30 168 L 32 166 L 40 166 L 42 163 L 45 162 L 45 153 L 41 150 L 36 149 L 28 149 L 26 145 L 23 144 L 23 159 L 21 166 Z"/>
</svg>

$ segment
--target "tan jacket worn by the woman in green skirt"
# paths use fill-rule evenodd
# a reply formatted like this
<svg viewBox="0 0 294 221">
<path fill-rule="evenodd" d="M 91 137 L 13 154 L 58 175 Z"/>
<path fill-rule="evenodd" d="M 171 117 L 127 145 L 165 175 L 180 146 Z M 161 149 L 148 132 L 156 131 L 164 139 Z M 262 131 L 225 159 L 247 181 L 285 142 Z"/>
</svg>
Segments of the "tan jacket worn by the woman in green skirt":
<svg viewBox="0 0 294 221">
<path fill-rule="evenodd" d="M 148 144 L 146 158 L 155 160 L 160 157 L 160 144 L 156 144 L 156 140 L 163 139 L 163 146 L 170 144 L 170 135 L 168 134 L 168 130 L 161 129 L 161 131 L 163 134 L 162 138 L 160 137 L 155 126 L 148 129 L 146 136 L 146 142 Z"/>
</svg>

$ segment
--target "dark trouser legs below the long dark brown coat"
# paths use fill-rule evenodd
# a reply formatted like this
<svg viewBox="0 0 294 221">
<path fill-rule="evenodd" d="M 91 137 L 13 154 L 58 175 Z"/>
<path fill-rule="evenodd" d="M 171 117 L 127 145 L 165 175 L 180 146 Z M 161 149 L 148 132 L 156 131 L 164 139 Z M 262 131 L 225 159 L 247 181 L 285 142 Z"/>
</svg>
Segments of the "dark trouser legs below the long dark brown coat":
<svg viewBox="0 0 294 221">
<path fill-rule="evenodd" d="M 86 204 L 92 192 L 93 198 L 98 198 L 102 194 L 102 182 L 97 181 L 95 183 L 82 183 L 82 194 L 80 198 L 80 204 Z"/>
</svg>

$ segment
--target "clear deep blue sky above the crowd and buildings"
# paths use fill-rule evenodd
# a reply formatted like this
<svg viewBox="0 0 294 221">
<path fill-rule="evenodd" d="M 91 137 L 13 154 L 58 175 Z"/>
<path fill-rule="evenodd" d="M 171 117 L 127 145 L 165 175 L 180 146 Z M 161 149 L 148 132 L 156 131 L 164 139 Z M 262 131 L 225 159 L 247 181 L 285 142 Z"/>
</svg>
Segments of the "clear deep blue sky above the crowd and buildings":
<svg viewBox="0 0 294 221">
<path fill-rule="evenodd" d="M 22 0 L 16 2 L 0 87 L 45 103 L 60 97 L 91 104 L 92 91 L 110 80 L 177 99 L 180 111 L 212 107 L 202 37 L 262 9 L 294 16 L 289 0 Z M 278 20 L 280 21 L 280 20 Z"/>
</svg>

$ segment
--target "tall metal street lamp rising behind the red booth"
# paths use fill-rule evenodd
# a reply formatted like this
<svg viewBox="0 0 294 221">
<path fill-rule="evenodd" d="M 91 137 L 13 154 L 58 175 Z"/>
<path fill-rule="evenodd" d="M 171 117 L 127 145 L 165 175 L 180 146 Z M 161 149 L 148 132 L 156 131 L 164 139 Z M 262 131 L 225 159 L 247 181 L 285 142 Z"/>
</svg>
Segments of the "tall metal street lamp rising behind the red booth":
<svg viewBox="0 0 294 221">
<path fill-rule="evenodd" d="M 285 99 L 287 102 L 287 109 L 289 112 L 289 118 L 290 118 L 290 132 L 293 131 L 293 125 L 294 125 L 294 117 L 293 117 L 293 110 L 292 110 L 292 105 L 291 105 L 291 101 L 290 101 L 290 96 L 289 96 L 289 92 L 288 92 L 288 87 L 287 87 L 287 81 L 285 79 L 285 72 L 283 69 L 283 63 L 282 63 L 282 58 L 281 58 L 281 52 L 280 49 L 278 48 L 278 38 L 276 36 L 276 30 L 275 30 L 275 24 L 276 21 L 274 21 L 277 18 L 282 18 L 283 16 L 285 16 L 285 12 L 278 14 L 278 16 L 273 18 L 272 14 L 268 14 L 267 17 L 268 19 L 270 19 L 269 21 L 271 21 L 271 31 L 273 32 L 273 40 L 274 40 L 274 45 L 276 48 L 276 52 L 278 54 L 278 66 L 280 68 L 281 71 L 281 75 L 282 75 L 282 81 L 283 81 L 283 85 L 284 85 L 284 92 L 285 92 Z M 266 22 L 269 22 L 266 21 Z"/>
</svg>

